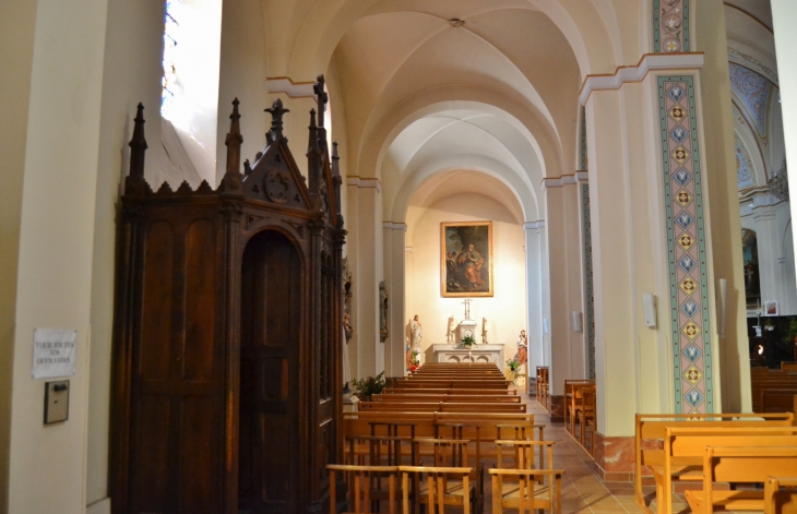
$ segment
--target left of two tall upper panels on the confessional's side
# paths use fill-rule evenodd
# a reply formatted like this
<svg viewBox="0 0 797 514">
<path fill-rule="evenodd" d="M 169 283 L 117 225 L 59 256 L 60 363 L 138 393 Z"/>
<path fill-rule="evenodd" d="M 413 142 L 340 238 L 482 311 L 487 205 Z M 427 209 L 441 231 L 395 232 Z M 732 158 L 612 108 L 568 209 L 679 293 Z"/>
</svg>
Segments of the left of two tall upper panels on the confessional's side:
<svg viewBox="0 0 797 514">
<path fill-rule="evenodd" d="M 144 256 L 144 294 L 141 354 L 138 374 L 148 380 L 166 380 L 174 309 L 175 229 L 156 222 L 150 226 Z"/>
</svg>

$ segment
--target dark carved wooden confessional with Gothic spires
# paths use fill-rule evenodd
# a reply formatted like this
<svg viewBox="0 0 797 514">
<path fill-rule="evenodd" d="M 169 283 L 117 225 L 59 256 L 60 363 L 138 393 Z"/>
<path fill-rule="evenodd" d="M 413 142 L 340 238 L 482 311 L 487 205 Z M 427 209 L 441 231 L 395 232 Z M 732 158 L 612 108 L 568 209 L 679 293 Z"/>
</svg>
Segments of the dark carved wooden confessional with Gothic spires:
<svg viewBox="0 0 797 514">
<path fill-rule="evenodd" d="M 218 189 L 153 192 L 139 105 L 117 252 L 115 514 L 328 509 L 325 465 L 342 455 L 345 231 L 322 81 L 309 184 L 278 99 L 265 148 L 240 172 L 236 100 Z"/>
</svg>

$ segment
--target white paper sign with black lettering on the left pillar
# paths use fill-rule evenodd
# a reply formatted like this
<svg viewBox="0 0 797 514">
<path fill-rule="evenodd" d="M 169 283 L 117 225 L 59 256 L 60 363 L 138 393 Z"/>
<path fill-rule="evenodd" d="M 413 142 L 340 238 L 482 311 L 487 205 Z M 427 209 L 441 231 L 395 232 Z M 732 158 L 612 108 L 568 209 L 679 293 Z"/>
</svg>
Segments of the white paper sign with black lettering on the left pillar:
<svg viewBox="0 0 797 514">
<path fill-rule="evenodd" d="M 33 378 L 73 375 L 76 344 L 78 331 L 36 328 L 33 332 Z"/>
</svg>

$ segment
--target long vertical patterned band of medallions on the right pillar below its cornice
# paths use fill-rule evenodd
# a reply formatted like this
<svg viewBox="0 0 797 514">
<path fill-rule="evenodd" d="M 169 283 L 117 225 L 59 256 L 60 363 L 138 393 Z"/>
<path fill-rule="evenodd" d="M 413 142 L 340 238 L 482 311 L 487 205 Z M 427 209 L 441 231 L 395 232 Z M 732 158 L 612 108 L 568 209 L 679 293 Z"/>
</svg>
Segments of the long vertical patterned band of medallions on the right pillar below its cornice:
<svg viewBox="0 0 797 514">
<path fill-rule="evenodd" d="M 692 75 L 659 76 L 675 411 L 713 413 L 703 186 Z"/>
</svg>

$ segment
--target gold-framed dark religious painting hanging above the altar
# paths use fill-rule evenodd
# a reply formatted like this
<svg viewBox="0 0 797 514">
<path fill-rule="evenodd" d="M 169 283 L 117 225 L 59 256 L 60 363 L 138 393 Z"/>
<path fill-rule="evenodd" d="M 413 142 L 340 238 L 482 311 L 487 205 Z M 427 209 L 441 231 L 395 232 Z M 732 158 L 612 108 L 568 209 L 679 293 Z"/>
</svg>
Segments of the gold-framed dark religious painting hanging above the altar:
<svg viewBox="0 0 797 514">
<path fill-rule="evenodd" d="M 443 298 L 492 296 L 492 222 L 440 224 Z"/>
</svg>

